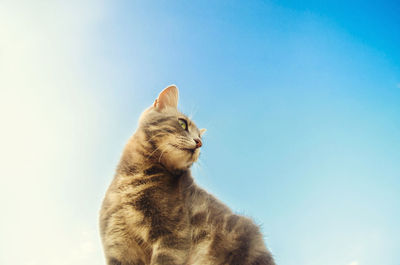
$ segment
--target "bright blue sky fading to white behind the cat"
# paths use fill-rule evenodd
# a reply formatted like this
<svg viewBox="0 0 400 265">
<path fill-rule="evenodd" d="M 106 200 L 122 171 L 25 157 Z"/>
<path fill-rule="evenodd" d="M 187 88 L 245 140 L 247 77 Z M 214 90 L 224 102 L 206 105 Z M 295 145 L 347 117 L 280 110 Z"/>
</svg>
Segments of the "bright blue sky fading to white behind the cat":
<svg viewBox="0 0 400 265">
<path fill-rule="evenodd" d="M 169 84 L 193 174 L 278 265 L 400 264 L 398 1 L 0 2 L 0 263 L 105 264 L 104 192 Z"/>
</svg>

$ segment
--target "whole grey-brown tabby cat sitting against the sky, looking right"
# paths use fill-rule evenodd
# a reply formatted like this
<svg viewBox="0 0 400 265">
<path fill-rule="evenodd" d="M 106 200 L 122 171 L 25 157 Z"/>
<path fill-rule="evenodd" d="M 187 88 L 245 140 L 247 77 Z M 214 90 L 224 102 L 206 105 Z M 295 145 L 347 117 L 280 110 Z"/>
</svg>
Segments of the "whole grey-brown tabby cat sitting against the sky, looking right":
<svg viewBox="0 0 400 265">
<path fill-rule="evenodd" d="M 128 141 L 100 211 L 108 265 L 274 265 L 257 225 L 198 187 L 202 134 L 165 88 Z"/>
</svg>

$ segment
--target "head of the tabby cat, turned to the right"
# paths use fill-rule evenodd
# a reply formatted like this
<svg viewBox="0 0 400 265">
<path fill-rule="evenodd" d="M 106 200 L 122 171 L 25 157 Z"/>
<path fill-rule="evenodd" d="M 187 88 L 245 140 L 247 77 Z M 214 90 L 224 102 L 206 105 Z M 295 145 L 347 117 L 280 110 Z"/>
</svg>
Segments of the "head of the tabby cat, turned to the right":
<svg viewBox="0 0 400 265">
<path fill-rule="evenodd" d="M 170 169 L 186 169 L 200 155 L 205 129 L 198 129 L 177 106 L 178 88 L 171 85 L 143 112 L 139 130 L 145 136 L 152 159 Z"/>
</svg>

